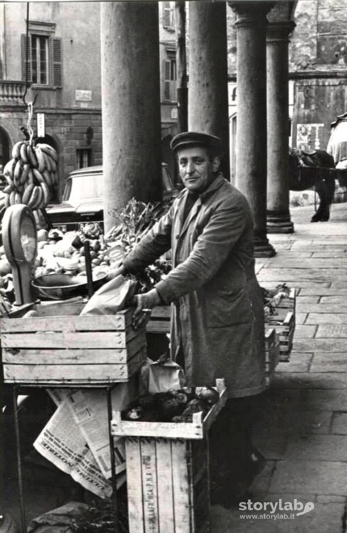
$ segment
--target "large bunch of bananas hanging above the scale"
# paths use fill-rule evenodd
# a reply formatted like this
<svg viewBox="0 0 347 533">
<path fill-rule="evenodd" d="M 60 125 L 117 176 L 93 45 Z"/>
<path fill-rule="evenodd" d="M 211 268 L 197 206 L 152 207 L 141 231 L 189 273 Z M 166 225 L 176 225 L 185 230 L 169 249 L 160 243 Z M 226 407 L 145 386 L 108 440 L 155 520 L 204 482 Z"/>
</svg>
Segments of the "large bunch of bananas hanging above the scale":
<svg viewBox="0 0 347 533">
<path fill-rule="evenodd" d="M 5 207 L 26 204 L 31 209 L 45 207 L 53 195 L 57 182 L 58 155 L 49 144 L 28 141 L 16 142 L 12 159 L 4 167 L 7 186 Z"/>
</svg>

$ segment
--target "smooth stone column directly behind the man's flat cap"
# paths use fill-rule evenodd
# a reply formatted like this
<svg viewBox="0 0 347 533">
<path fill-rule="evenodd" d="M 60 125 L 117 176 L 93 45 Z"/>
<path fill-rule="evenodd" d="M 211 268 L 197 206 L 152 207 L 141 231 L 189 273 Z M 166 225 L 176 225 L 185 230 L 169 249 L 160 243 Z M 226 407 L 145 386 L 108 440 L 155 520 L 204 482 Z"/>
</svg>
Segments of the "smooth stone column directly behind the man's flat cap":
<svg viewBox="0 0 347 533">
<path fill-rule="evenodd" d="M 225 2 L 189 2 L 188 128 L 218 135 L 221 171 L 230 179 Z"/>
</svg>

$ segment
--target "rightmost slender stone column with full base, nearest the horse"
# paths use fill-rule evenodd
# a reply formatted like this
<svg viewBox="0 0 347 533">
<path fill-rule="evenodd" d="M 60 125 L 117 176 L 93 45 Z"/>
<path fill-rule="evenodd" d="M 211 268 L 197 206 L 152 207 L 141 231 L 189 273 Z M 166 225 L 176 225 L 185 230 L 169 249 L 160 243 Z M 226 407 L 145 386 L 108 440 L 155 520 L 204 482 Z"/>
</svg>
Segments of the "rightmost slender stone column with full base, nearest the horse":
<svg viewBox="0 0 347 533">
<path fill-rule="evenodd" d="M 295 24 L 270 21 L 267 28 L 268 233 L 293 233 L 289 211 L 288 35 Z"/>
</svg>

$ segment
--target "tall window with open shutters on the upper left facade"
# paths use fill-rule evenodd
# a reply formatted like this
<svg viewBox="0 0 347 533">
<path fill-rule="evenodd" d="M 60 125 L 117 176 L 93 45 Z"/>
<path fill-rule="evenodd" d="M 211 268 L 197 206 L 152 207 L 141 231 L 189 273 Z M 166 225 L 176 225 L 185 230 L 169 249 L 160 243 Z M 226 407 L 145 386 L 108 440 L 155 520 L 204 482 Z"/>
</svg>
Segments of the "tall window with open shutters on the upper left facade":
<svg viewBox="0 0 347 533">
<path fill-rule="evenodd" d="M 55 24 L 29 21 L 29 35 L 22 35 L 22 78 L 42 87 L 62 86 L 61 39 Z"/>
</svg>

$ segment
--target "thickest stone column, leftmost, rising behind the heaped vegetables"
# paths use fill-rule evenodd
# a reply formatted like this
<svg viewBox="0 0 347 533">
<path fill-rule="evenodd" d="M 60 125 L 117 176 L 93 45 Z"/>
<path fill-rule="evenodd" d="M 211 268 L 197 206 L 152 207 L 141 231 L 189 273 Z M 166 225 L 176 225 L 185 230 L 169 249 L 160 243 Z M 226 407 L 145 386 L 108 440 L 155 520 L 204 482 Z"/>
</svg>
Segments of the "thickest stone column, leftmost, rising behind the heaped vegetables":
<svg viewBox="0 0 347 533">
<path fill-rule="evenodd" d="M 101 4 L 105 231 L 128 200 L 162 198 L 157 2 Z"/>
</svg>

